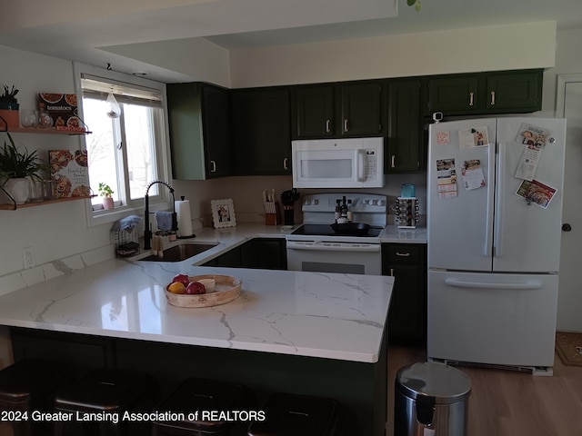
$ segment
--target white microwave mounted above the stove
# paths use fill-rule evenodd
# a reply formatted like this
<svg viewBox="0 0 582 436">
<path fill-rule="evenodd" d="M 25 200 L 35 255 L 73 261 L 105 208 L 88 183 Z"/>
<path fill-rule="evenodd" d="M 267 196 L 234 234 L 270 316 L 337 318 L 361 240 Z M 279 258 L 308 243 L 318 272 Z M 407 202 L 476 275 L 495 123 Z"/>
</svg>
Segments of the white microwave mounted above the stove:
<svg viewBox="0 0 582 436">
<path fill-rule="evenodd" d="M 384 138 L 293 141 L 294 188 L 381 188 Z"/>
</svg>

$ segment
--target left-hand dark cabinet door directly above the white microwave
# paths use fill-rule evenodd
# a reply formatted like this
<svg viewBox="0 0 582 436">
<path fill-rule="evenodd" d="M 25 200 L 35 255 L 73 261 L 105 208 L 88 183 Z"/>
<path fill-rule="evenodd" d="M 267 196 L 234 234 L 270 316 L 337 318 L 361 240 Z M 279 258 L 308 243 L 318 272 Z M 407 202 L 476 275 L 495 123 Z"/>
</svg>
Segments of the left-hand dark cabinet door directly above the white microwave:
<svg viewBox="0 0 582 436">
<path fill-rule="evenodd" d="M 297 138 L 333 137 L 334 87 L 298 86 L 295 89 L 293 131 Z"/>
</svg>

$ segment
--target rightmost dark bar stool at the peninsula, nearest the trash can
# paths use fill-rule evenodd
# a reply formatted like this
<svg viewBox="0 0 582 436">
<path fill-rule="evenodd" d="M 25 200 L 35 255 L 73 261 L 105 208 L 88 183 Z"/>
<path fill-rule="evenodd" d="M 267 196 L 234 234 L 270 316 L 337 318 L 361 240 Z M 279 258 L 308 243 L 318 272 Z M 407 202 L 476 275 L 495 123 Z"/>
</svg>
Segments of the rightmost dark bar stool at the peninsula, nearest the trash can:
<svg viewBox="0 0 582 436">
<path fill-rule="evenodd" d="M 265 421 L 248 426 L 248 436 L 338 436 L 339 403 L 332 399 L 273 393 L 263 408 Z"/>
</svg>

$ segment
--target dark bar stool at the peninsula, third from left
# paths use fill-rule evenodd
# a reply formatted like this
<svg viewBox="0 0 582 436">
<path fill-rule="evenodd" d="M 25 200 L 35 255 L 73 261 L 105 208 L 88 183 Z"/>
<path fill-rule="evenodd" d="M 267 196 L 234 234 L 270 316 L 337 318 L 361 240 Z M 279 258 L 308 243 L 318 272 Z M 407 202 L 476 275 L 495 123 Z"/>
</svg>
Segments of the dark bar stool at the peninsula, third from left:
<svg viewBox="0 0 582 436">
<path fill-rule="evenodd" d="M 208 421 L 199 413 L 188 418 L 195 411 L 236 411 L 252 401 L 250 393 L 236 383 L 190 378 L 183 381 L 162 401 L 156 411 L 175 414 L 183 413 L 184 419 L 154 421 L 153 436 L 226 436 L 231 434 L 234 421 Z M 254 403 L 253 403 L 254 404 Z M 175 417 L 176 418 L 176 415 Z"/>
</svg>

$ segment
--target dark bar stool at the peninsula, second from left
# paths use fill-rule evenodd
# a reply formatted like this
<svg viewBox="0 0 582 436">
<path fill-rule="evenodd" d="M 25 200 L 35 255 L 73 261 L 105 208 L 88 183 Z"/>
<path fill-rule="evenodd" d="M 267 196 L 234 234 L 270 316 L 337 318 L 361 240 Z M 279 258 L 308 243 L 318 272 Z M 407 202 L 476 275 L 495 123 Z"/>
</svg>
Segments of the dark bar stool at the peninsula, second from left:
<svg viewBox="0 0 582 436">
<path fill-rule="evenodd" d="M 55 411 L 71 412 L 74 420 L 77 414 L 87 417 L 81 420 L 85 435 L 146 434 L 146 422 L 122 417 L 125 411 L 151 411 L 156 392 L 156 381 L 145 372 L 100 368 L 61 391 Z M 65 421 L 55 423 L 55 436 L 63 434 L 65 425 Z"/>
</svg>

